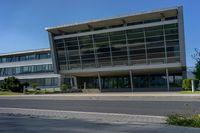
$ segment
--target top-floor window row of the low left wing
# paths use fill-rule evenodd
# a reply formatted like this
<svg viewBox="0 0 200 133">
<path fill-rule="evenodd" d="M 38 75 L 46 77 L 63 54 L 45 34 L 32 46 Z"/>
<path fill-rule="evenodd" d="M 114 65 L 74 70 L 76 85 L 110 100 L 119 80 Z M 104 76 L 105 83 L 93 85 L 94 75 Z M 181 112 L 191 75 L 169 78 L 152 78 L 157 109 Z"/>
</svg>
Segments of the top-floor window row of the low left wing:
<svg viewBox="0 0 200 133">
<path fill-rule="evenodd" d="M 30 61 L 51 58 L 50 53 L 30 54 L 30 55 L 12 55 L 11 57 L 0 57 L 0 63 Z"/>
</svg>

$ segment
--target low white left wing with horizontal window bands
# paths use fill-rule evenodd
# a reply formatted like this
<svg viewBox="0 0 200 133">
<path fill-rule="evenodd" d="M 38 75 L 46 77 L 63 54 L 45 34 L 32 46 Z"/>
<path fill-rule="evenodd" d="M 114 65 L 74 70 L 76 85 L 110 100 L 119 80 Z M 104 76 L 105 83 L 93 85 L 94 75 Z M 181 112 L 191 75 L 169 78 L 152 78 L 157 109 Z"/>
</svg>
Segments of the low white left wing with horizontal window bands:
<svg viewBox="0 0 200 133">
<path fill-rule="evenodd" d="M 60 78 L 53 72 L 50 49 L 0 54 L 0 84 L 9 76 L 40 87 L 56 87 Z"/>
</svg>

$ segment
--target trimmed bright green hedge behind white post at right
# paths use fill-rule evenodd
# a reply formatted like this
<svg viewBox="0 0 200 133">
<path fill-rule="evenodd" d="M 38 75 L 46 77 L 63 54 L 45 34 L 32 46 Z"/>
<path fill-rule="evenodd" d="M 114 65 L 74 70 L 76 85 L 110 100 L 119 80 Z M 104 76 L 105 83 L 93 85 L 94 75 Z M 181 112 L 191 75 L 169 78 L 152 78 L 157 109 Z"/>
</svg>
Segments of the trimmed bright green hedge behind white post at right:
<svg viewBox="0 0 200 133">
<path fill-rule="evenodd" d="M 199 80 L 198 79 L 195 79 L 195 78 L 191 78 L 191 79 L 184 79 L 182 81 L 182 88 L 184 90 L 192 90 L 192 85 L 191 85 L 191 80 L 194 80 L 194 87 L 195 88 L 198 88 L 198 84 L 199 84 Z"/>
</svg>

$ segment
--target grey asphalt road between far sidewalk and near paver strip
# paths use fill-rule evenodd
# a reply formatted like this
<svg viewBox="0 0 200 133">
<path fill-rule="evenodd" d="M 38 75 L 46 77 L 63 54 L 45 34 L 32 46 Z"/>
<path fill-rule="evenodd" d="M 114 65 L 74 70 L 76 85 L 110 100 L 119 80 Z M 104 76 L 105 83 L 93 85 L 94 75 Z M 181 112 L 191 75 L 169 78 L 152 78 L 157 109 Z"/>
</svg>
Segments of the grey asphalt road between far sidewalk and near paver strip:
<svg viewBox="0 0 200 133">
<path fill-rule="evenodd" d="M 200 101 L 0 99 L 0 107 L 167 116 L 200 113 Z"/>
</svg>

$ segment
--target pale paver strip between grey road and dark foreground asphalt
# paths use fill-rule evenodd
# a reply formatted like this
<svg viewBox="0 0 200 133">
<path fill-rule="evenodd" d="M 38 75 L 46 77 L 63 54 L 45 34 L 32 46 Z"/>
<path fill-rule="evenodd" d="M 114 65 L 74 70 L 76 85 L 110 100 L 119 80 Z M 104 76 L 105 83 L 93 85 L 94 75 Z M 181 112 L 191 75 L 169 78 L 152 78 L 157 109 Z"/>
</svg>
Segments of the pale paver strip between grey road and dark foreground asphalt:
<svg viewBox="0 0 200 133">
<path fill-rule="evenodd" d="M 24 108 L 0 108 L 2 114 L 31 115 L 39 117 L 52 117 L 61 119 L 83 119 L 88 121 L 100 122 L 125 122 L 125 123 L 154 123 L 164 124 L 167 117 L 149 115 L 130 115 L 117 113 L 98 113 L 98 112 L 79 112 L 79 111 L 60 111 Z"/>
</svg>

